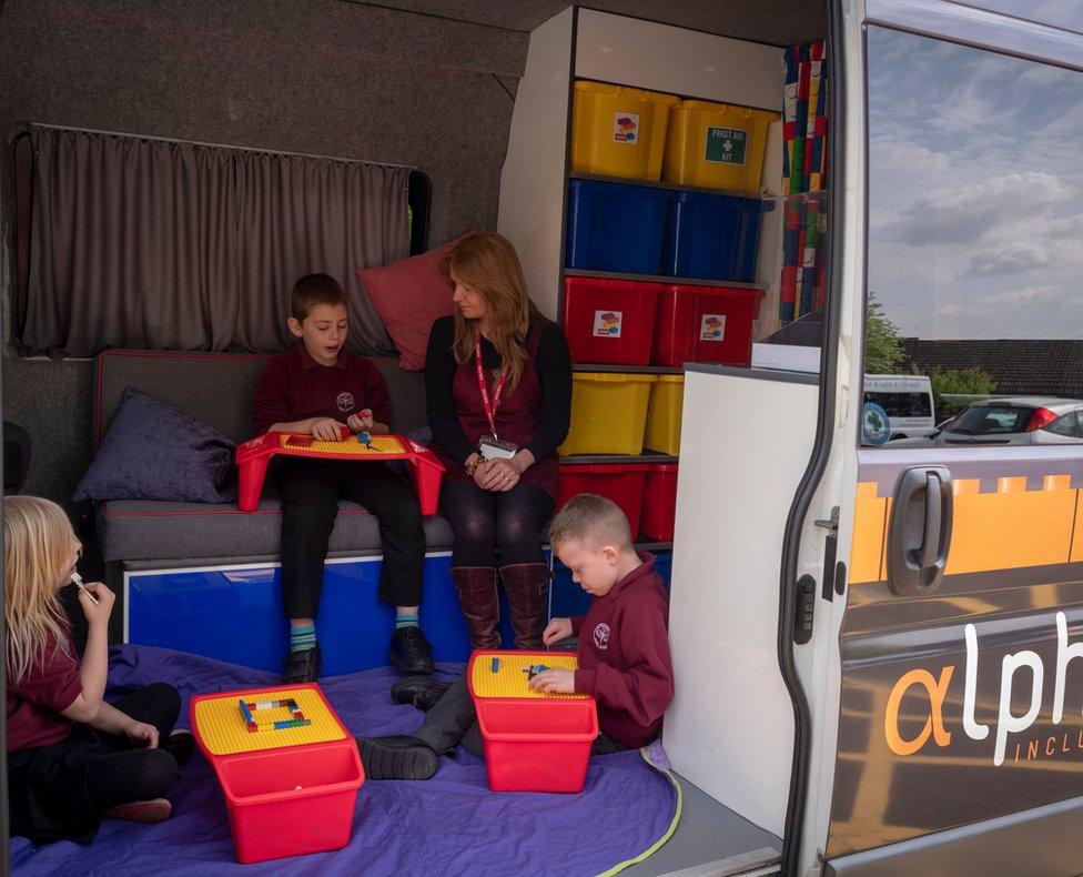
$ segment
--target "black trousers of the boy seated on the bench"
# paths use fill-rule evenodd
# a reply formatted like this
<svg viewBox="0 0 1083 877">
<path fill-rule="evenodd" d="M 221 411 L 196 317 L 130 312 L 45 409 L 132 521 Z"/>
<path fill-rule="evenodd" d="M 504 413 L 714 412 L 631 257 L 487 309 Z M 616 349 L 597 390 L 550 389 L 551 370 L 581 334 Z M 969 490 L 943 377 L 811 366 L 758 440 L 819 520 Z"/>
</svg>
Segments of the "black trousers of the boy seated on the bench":
<svg viewBox="0 0 1083 877">
<path fill-rule="evenodd" d="M 289 457 L 282 461 L 279 484 L 286 617 L 316 617 L 340 497 L 365 506 L 379 523 L 379 598 L 392 606 L 421 603 L 425 530 L 417 498 L 402 476 L 379 463 Z"/>
</svg>

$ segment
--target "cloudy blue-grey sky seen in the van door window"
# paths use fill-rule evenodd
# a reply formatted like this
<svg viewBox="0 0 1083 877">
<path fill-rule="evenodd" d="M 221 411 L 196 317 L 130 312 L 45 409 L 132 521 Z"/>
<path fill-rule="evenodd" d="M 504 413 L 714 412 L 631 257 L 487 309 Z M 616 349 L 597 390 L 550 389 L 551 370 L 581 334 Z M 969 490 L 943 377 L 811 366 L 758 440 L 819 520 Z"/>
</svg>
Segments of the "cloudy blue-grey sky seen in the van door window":
<svg viewBox="0 0 1083 877">
<path fill-rule="evenodd" d="M 868 60 L 884 314 L 909 337 L 1083 337 L 1083 73 L 881 28 Z"/>
</svg>

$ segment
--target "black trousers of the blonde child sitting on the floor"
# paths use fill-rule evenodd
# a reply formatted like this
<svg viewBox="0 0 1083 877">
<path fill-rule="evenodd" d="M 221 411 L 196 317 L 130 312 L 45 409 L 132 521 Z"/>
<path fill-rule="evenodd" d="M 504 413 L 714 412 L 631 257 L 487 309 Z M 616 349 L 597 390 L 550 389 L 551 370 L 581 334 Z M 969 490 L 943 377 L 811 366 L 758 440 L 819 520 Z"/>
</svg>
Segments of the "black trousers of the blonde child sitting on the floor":
<svg viewBox="0 0 1083 877">
<path fill-rule="evenodd" d="M 164 797 L 176 779 L 169 735 L 181 709 L 176 689 L 154 683 L 113 706 L 158 728 L 159 748 L 77 724 L 59 743 L 8 753 L 11 833 L 36 844 L 89 843 L 99 814 L 121 804 Z"/>
</svg>

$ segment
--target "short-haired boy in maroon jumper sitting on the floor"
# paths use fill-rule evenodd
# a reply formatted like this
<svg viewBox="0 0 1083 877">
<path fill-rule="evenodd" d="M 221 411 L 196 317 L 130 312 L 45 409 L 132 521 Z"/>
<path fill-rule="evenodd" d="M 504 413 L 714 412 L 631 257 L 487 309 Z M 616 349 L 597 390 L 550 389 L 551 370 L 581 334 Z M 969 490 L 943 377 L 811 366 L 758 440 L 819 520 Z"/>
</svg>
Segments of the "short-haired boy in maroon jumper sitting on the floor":
<svg viewBox="0 0 1083 877">
<path fill-rule="evenodd" d="M 601 733 L 591 753 L 645 746 L 661 729 L 674 698 L 674 669 L 666 631 L 669 598 L 655 558 L 637 554 L 628 521 L 609 500 L 579 494 L 553 518 L 549 543 L 583 589 L 594 595 L 586 617 L 554 618 L 547 646 L 579 635 L 579 668 L 548 669 L 530 681 L 544 692 L 591 694 Z M 477 714 L 460 676 L 448 686 L 428 678 L 396 683 L 392 696 L 427 710 L 412 735 L 358 737 L 370 779 L 428 779 L 437 757 L 457 743 L 483 756 Z"/>
</svg>

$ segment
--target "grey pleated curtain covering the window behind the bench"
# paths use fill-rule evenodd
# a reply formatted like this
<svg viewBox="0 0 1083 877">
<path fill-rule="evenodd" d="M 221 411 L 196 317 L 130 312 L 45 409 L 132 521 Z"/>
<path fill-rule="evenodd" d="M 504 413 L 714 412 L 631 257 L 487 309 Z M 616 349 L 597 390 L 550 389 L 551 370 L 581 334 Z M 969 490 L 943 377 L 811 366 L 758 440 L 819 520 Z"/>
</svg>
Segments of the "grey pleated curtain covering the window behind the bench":
<svg viewBox="0 0 1083 877">
<path fill-rule="evenodd" d="M 282 350 L 290 290 L 313 271 L 346 289 L 354 352 L 393 350 L 355 270 L 408 254 L 407 169 L 54 129 L 31 140 L 24 351 Z"/>
</svg>

